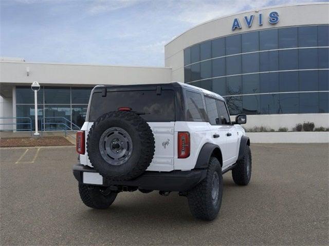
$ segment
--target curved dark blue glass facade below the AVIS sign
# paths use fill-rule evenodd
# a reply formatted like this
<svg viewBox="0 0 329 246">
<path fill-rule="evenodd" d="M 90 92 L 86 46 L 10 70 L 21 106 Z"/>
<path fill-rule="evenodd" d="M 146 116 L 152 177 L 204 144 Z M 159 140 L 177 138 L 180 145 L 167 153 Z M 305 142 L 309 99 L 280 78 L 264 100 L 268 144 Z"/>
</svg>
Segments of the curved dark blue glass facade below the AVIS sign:
<svg viewBox="0 0 329 246">
<path fill-rule="evenodd" d="M 184 80 L 232 115 L 328 113 L 328 38 L 329 25 L 308 25 L 207 40 L 184 49 Z"/>
</svg>

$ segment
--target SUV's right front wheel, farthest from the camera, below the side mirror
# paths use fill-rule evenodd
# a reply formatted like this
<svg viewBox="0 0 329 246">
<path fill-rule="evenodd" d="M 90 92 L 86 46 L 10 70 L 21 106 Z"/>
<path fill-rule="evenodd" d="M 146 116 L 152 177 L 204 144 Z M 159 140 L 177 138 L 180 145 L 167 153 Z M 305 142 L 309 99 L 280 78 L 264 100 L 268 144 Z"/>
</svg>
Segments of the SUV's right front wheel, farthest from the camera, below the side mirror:
<svg viewBox="0 0 329 246">
<path fill-rule="evenodd" d="M 251 151 L 249 146 L 246 146 L 243 158 L 237 161 L 237 165 L 232 169 L 232 178 L 236 185 L 248 185 L 251 178 Z"/>
</svg>

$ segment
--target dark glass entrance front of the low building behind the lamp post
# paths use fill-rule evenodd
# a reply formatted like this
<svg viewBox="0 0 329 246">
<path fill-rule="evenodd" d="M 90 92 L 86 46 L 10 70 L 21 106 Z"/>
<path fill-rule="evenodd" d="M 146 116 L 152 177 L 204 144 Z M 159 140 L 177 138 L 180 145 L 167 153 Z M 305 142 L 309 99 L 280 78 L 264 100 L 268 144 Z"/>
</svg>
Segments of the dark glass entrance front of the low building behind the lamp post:
<svg viewBox="0 0 329 246">
<path fill-rule="evenodd" d="M 77 130 L 85 120 L 92 87 L 47 87 L 38 91 L 38 128 L 45 130 Z M 34 130 L 34 92 L 31 87 L 16 86 L 16 117 L 30 117 Z M 45 118 L 44 118 L 45 117 Z M 28 123 L 17 118 L 17 123 Z M 43 125 L 41 126 L 41 122 Z M 71 122 L 74 124 L 71 124 Z M 75 126 L 76 125 L 76 126 Z M 28 124 L 17 124 L 17 131 L 29 129 Z"/>
</svg>

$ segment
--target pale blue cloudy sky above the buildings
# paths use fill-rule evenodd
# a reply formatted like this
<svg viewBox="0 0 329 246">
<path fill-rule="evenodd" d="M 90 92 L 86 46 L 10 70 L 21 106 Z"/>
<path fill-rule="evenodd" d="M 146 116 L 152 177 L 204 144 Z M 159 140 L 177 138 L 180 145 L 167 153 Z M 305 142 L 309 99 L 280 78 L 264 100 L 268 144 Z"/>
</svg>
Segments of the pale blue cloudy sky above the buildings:
<svg viewBox="0 0 329 246">
<path fill-rule="evenodd" d="M 292 0 L 0 0 L 0 56 L 163 66 L 164 45 L 215 17 Z"/>
</svg>

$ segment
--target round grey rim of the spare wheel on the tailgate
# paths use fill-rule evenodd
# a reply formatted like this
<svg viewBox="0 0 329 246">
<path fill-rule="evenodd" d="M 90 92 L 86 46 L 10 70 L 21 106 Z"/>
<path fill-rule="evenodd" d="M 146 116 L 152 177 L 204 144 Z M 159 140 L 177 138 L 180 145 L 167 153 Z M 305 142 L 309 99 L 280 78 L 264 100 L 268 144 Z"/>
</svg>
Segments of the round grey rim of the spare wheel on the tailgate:
<svg viewBox="0 0 329 246">
<path fill-rule="evenodd" d="M 120 127 L 108 128 L 99 139 L 99 151 L 108 164 L 122 165 L 133 153 L 132 138 Z"/>
</svg>

